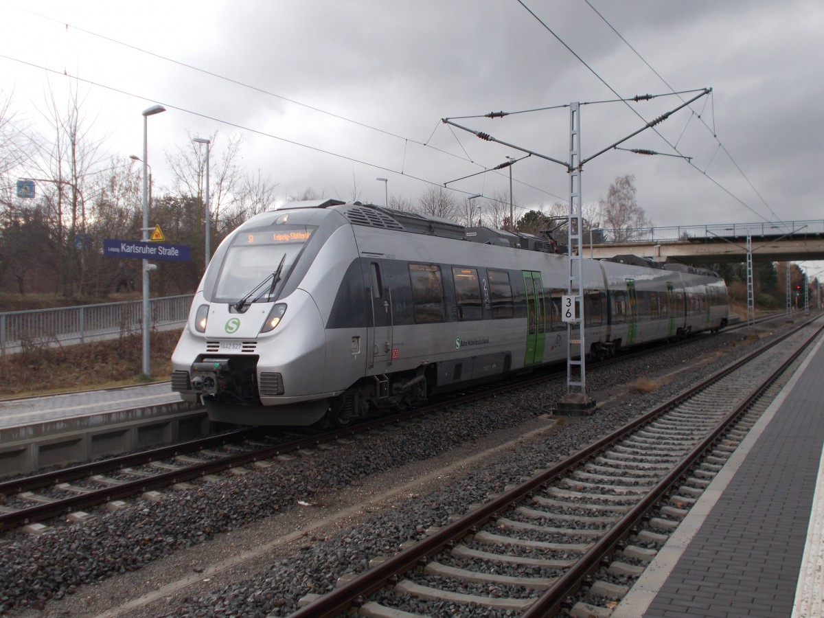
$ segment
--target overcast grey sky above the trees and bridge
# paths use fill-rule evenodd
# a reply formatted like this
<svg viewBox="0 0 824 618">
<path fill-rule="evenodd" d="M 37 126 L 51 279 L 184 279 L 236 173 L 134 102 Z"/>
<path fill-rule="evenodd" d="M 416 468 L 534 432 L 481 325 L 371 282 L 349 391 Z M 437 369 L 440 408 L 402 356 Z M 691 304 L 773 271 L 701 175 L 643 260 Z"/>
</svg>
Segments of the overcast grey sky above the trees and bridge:
<svg viewBox="0 0 824 618">
<path fill-rule="evenodd" d="M 632 174 L 658 226 L 824 218 L 820 0 L 522 1 L 4 0 L 0 89 L 38 122 L 44 92 L 79 78 L 96 135 L 121 156 L 142 156 L 141 112 L 165 105 L 148 119 L 161 185 L 164 153 L 190 134 L 217 132 L 219 157 L 242 133 L 243 166 L 280 199 L 311 188 L 382 204 L 377 177 L 408 199 L 444 183 L 463 198 L 506 192 L 506 170 L 452 180 L 522 157 L 515 147 L 569 161 L 573 101 L 586 104 L 586 160 L 711 88 L 620 144 L 662 156 L 587 162 L 583 202 Z M 602 102 L 642 94 L 669 96 Z M 466 118 L 539 108 L 555 109 Z M 526 208 L 568 199 L 559 163 L 529 157 L 513 180 Z"/>
</svg>

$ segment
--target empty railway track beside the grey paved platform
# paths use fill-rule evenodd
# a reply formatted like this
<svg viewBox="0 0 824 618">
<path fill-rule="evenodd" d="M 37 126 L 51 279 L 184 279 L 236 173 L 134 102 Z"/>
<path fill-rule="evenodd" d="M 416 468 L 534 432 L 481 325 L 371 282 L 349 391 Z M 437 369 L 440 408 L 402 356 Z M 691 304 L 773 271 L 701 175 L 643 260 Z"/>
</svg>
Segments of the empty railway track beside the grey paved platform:
<svg viewBox="0 0 824 618">
<path fill-rule="evenodd" d="M 376 556 L 333 592 L 305 597 L 293 616 L 353 606 L 428 616 L 449 604 L 607 616 L 789 379 L 821 332 L 810 330 L 798 327 L 423 541 Z"/>
</svg>

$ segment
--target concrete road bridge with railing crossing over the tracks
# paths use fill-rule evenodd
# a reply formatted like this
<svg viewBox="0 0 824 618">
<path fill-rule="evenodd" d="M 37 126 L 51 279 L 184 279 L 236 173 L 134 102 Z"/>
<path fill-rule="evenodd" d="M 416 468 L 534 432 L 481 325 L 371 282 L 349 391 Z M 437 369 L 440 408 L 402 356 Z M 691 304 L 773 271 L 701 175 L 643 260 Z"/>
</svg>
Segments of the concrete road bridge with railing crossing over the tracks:
<svg viewBox="0 0 824 618">
<path fill-rule="evenodd" d="M 747 260 L 747 238 L 754 262 L 824 260 L 824 221 L 719 223 L 637 229 L 593 229 L 583 237 L 584 257 L 639 255 L 681 264 Z M 563 233 L 558 239 L 564 242 Z"/>
</svg>

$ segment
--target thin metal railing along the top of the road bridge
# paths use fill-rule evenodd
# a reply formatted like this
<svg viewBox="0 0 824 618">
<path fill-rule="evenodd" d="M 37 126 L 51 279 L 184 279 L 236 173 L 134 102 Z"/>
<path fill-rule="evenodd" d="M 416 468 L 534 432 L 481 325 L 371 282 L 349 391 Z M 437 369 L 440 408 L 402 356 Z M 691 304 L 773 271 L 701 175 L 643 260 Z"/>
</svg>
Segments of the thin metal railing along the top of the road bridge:
<svg viewBox="0 0 824 618">
<path fill-rule="evenodd" d="M 609 242 L 686 241 L 691 239 L 745 238 L 747 236 L 794 236 L 824 234 L 824 221 L 773 221 L 761 223 L 714 223 L 672 227 L 630 227 L 593 229 L 592 244 Z M 586 232 L 583 241 L 590 240 Z"/>
</svg>

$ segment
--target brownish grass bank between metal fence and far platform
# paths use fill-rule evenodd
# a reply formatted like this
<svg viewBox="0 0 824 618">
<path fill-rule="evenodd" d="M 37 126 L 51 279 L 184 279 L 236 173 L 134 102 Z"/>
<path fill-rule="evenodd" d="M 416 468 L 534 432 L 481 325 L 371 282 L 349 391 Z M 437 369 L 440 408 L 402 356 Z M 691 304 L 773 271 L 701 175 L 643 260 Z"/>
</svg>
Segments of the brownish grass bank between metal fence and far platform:
<svg viewBox="0 0 824 618">
<path fill-rule="evenodd" d="M 143 376 L 143 336 L 76 345 L 26 345 L 0 358 L 0 398 L 49 395 L 92 388 L 165 382 L 180 330 L 154 332 L 149 344 L 152 379 Z"/>
</svg>

